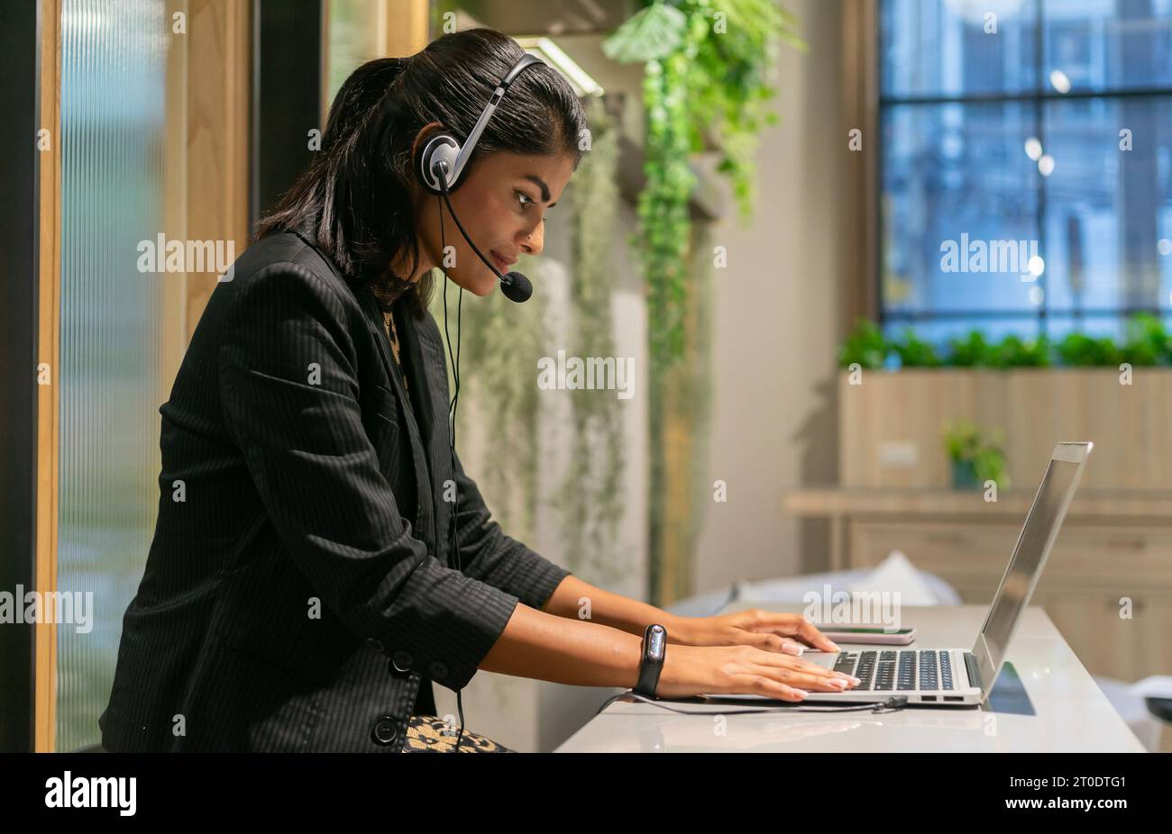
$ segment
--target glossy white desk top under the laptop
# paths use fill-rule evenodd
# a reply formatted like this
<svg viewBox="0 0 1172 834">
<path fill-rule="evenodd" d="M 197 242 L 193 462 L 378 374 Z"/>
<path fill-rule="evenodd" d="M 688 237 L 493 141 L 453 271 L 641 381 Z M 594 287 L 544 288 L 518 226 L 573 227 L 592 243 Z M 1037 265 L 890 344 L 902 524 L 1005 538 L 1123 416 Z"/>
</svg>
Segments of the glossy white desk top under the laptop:
<svg viewBox="0 0 1172 834">
<path fill-rule="evenodd" d="M 795 603 L 737 603 L 725 611 L 764 608 L 800 611 Z M 987 606 L 920 608 L 905 606 L 902 624 L 917 628 L 909 647 L 969 648 L 984 622 Z M 670 644 L 668 651 L 672 650 Z M 1027 609 L 1007 662 L 1014 664 L 1028 696 L 1014 698 L 1011 676 L 1002 671 L 994 697 L 980 707 L 908 707 L 871 712 L 751 713 L 718 719 L 681 716 L 638 700 L 616 700 L 559 746 L 558 753 L 699 753 L 699 752 L 1144 752 L 1143 745 L 1111 707 L 1067 641 L 1038 607 Z M 609 691 L 609 690 L 607 690 Z M 606 696 L 600 690 L 599 702 Z M 1004 700 L 1002 700 L 1004 698 Z M 736 710 L 762 702 L 689 704 L 679 709 Z"/>
</svg>

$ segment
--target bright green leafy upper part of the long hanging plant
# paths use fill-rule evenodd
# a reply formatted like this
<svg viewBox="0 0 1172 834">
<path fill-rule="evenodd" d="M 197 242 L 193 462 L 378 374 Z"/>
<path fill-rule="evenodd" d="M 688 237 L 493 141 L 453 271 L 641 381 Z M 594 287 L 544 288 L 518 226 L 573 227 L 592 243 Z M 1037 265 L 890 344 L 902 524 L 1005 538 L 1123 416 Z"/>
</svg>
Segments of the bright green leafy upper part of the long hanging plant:
<svg viewBox="0 0 1172 834">
<path fill-rule="evenodd" d="M 646 138 L 639 198 L 640 234 L 654 371 L 683 355 L 688 201 L 696 178 L 688 162 L 715 141 L 716 170 L 729 177 L 743 221 L 752 212 L 757 134 L 776 123 L 766 102 L 782 41 L 804 50 L 797 20 L 772 0 L 654 0 L 604 45 L 620 63 L 642 62 Z"/>
</svg>

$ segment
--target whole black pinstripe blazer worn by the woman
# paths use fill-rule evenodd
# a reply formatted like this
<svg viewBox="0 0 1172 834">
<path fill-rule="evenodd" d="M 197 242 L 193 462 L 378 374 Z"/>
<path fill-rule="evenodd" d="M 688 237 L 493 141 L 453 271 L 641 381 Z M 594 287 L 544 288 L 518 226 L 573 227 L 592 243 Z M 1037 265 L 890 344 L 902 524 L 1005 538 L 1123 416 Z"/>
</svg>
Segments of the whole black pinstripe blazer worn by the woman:
<svg viewBox="0 0 1172 834">
<path fill-rule="evenodd" d="M 107 750 L 397 752 L 435 710 L 430 682 L 464 686 L 517 603 L 570 573 L 500 531 L 458 457 L 452 473 L 431 316 L 396 302 L 408 399 L 373 294 L 312 240 L 240 255 L 159 409 L 158 521 Z"/>
</svg>

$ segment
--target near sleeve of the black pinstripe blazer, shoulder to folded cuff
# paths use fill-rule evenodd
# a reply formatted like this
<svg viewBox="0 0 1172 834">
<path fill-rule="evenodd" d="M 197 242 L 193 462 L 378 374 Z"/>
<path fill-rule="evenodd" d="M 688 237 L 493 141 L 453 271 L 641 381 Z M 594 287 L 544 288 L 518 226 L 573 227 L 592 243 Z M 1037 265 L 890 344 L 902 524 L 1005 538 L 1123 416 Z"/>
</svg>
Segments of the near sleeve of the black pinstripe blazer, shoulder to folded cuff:
<svg viewBox="0 0 1172 834">
<path fill-rule="evenodd" d="M 222 409 L 293 562 L 347 628 L 462 689 L 518 596 L 444 567 L 411 535 L 362 424 L 341 296 L 295 264 L 237 280 L 219 347 Z"/>
</svg>

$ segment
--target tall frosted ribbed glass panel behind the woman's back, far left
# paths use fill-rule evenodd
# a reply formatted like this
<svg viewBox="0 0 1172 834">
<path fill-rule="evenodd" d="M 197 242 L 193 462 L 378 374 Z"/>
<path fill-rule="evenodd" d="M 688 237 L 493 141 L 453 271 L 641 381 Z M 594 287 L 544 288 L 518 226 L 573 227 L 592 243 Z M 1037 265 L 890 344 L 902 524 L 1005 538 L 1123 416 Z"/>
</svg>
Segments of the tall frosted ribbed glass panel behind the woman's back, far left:
<svg viewBox="0 0 1172 834">
<path fill-rule="evenodd" d="M 93 593 L 57 627 L 59 751 L 98 740 L 122 614 L 154 533 L 163 281 L 163 0 L 64 0 L 61 16 L 61 385 L 57 588 Z M 182 35 L 179 35 L 182 37 Z"/>
</svg>

